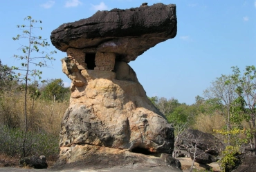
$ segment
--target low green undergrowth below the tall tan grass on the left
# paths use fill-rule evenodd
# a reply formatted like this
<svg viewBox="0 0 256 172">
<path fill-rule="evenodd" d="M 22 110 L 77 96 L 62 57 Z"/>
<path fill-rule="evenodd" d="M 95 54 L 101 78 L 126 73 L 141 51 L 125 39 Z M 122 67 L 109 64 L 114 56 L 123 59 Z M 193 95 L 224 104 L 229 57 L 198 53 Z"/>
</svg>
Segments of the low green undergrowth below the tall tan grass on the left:
<svg viewBox="0 0 256 172">
<path fill-rule="evenodd" d="M 25 132 L 19 128 L 10 129 L 0 125 L 0 147 L 1 153 L 10 156 L 21 156 L 23 153 L 23 140 L 26 136 L 26 156 L 46 155 L 57 156 L 59 153 L 58 136 L 53 136 L 44 132 Z"/>
</svg>

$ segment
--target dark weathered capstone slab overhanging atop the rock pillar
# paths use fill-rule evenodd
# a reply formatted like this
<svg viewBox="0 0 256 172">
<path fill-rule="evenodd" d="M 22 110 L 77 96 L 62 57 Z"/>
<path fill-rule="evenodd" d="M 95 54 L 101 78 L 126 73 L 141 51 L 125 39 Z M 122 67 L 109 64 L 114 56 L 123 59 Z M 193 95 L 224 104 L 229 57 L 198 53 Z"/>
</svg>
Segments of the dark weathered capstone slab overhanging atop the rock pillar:
<svg viewBox="0 0 256 172">
<path fill-rule="evenodd" d="M 119 61 L 134 61 L 157 43 L 176 36 L 176 6 L 156 3 L 127 10 L 98 11 L 88 19 L 64 23 L 51 33 L 57 49 L 96 47 Z"/>
</svg>

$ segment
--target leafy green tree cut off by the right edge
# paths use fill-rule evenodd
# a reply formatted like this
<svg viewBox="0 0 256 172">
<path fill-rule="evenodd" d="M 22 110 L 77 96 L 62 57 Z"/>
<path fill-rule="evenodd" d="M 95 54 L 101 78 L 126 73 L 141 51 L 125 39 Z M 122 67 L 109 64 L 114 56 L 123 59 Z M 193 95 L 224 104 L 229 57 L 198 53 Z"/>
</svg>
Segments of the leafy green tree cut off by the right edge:
<svg viewBox="0 0 256 172">
<path fill-rule="evenodd" d="M 246 66 L 244 74 L 238 67 L 232 67 L 232 78 L 237 81 L 236 92 L 238 97 L 232 106 L 232 120 L 248 122 L 250 146 L 256 154 L 256 68 Z"/>
</svg>

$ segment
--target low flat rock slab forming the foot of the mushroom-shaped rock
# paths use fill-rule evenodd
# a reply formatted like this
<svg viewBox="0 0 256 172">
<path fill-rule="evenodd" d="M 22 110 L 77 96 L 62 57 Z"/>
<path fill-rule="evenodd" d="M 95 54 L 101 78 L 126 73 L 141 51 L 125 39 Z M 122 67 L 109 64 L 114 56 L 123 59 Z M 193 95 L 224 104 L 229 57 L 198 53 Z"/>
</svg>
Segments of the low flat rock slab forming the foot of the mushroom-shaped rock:
<svg viewBox="0 0 256 172">
<path fill-rule="evenodd" d="M 84 144 L 75 145 L 75 147 L 62 147 L 60 156 L 60 160 L 53 166 L 53 170 L 106 169 L 113 166 L 129 166 L 129 168 L 140 166 L 140 168 L 147 169 L 163 166 L 181 171 L 179 160 L 166 153 L 144 155 L 126 150 Z"/>
</svg>

